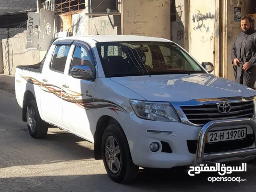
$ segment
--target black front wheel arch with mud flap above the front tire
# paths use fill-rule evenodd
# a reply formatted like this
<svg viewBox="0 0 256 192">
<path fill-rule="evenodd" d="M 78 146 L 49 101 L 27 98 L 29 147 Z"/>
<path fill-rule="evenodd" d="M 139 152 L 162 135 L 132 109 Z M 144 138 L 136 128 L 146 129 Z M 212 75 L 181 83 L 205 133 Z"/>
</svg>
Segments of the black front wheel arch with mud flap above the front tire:
<svg viewBox="0 0 256 192">
<path fill-rule="evenodd" d="M 108 115 L 101 116 L 98 119 L 98 122 L 96 124 L 96 131 L 94 133 L 94 159 L 96 160 L 102 159 L 102 153 L 101 153 L 102 136 L 105 129 L 110 124 L 117 124 L 118 126 L 120 126 L 120 128 L 122 128 L 120 123 L 115 118 Z"/>
</svg>

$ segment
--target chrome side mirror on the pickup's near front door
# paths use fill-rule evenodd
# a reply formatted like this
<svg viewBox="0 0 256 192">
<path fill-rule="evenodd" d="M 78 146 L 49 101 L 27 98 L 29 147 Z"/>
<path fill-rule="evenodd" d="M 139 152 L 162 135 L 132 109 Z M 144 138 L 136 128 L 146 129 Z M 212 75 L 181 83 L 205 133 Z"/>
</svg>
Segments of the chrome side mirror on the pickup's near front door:
<svg viewBox="0 0 256 192">
<path fill-rule="evenodd" d="M 70 75 L 77 79 L 92 79 L 93 72 L 88 65 L 76 65 L 71 69 Z"/>
</svg>

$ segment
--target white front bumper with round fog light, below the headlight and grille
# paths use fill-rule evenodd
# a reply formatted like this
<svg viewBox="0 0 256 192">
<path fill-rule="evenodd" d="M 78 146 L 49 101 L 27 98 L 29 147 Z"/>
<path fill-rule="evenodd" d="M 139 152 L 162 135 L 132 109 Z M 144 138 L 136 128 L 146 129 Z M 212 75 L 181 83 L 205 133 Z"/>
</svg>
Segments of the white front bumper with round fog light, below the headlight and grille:
<svg viewBox="0 0 256 192">
<path fill-rule="evenodd" d="M 241 125 L 246 125 L 250 134 L 254 135 L 251 146 L 226 152 L 204 153 L 206 135 L 210 130 L 232 129 Z M 195 166 L 204 162 L 246 161 L 256 158 L 256 122 L 250 118 L 211 121 L 203 127 L 196 127 L 177 122 L 143 120 L 134 114 L 122 122 L 121 126 L 126 134 L 134 164 L 144 168 Z M 188 150 L 188 140 L 198 141 L 195 153 Z M 149 145 L 152 142 L 160 144 L 158 152 L 150 151 Z M 162 151 L 162 142 L 170 145 L 171 152 Z"/>
</svg>

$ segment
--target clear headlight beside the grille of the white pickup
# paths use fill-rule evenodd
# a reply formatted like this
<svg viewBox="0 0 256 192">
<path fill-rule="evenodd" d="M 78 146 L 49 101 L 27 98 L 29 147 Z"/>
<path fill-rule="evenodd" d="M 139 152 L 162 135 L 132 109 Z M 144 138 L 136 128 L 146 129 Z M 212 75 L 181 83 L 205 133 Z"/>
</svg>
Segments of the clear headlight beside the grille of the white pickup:
<svg viewBox="0 0 256 192">
<path fill-rule="evenodd" d="M 179 122 L 178 116 L 168 102 L 146 102 L 131 99 L 130 104 L 139 118 L 155 121 Z"/>
</svg>

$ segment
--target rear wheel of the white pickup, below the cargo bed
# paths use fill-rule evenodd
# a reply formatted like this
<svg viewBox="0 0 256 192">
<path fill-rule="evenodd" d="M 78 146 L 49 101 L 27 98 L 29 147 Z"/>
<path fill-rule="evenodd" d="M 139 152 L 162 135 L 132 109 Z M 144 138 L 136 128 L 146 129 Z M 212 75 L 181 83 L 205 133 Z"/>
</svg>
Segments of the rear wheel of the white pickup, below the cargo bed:
<svg viewBox="0 0 256 192">
<path fill-rule="evenodd" d="M 31 114 L 30 114 L 31 112 Z M 32 126 L 32 124 L 34 126 Z M 48 132 L 48 124 L 44 122 L 38 112 L 36 100 L 31 100 L 27 106 L 27 125 L 30 136 L 35 139 L 45 138 Z"/>
</svg>

